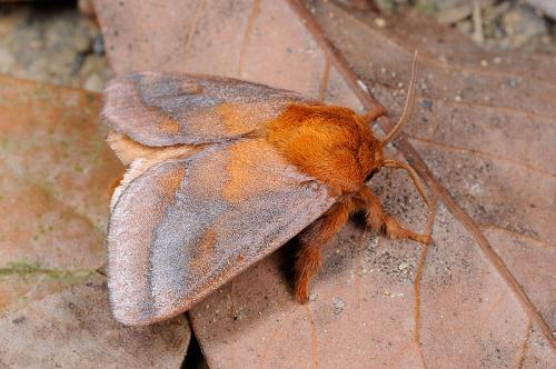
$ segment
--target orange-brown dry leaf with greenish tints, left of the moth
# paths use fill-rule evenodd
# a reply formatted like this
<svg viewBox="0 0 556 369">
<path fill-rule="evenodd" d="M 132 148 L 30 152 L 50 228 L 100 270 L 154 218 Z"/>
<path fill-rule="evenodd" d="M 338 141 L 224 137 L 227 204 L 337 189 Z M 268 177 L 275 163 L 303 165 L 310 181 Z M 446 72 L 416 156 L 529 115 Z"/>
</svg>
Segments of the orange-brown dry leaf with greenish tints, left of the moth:
<svg viewBox="0 0 556 369">
<path fill-rule="evenodd" d="M 106 260 L 110 186 L 122 167 L 100 99 L 0 78 L 0 315 L 67 288 Z"/>
</svg>

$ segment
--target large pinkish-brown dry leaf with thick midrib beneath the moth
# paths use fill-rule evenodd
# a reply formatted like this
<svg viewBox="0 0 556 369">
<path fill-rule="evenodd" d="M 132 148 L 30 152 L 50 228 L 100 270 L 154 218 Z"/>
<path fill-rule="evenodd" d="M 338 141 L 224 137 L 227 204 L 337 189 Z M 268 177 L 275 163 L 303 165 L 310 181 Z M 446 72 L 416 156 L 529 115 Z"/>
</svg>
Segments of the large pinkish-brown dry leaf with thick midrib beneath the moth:
<svg viewBox="0 0 556 369">
<path fill-rule="evenodd" d="M 326 247 L 306 306 L 291 297 L 288 250 L 277 252 L 190 311 L 210 367 L 554 362 L 554 58 L 487 53 L 411 14 L 377 28 L 373 14 L 329 1 L 96 8 L 116 73 L 239 77 L 358 111 L 376 103 L 369 89 L 399 113 L 413 50 L 421 56 L 417 109 L 397 148 L 441 202 L 435 243 L 350 223 Z M 373 186 L 390 213 L 425 226 L 404 176 Z"/>
</svg>

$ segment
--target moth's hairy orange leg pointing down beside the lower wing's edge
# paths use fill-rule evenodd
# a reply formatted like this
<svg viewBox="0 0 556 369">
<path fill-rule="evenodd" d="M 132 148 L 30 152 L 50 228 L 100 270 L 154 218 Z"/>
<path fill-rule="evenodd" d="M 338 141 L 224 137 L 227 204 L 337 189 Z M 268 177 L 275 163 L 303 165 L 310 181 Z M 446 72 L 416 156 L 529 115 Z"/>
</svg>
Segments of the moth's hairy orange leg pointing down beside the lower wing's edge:
<svg viewBox="0 0 556 369">
<path fill-rule="evenodd" d="M 299 302 L 307 301 L 309 282 L 320 269 L 320 249 L 341 229 L 354 209 L 354 201 L 346 198 L 335 203 L 299 235 L 300 246 L 295 266 L 295 290 Z"/>
</svg>

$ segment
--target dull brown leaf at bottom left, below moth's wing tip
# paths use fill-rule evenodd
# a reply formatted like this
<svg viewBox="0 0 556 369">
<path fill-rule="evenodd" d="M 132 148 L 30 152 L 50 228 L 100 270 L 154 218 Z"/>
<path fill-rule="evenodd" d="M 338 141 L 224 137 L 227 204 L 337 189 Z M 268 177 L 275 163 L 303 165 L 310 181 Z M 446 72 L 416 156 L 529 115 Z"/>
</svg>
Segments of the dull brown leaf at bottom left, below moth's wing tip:
<svg viewBox="0 0 556 369">
<path fill-rule="evenodd" d="M 141 328 L 116 322 L 106 278 L 96 275 L 0 319 L 0 367 L 178 368 L 189 337 L 183 317 Z"/>
</svg>

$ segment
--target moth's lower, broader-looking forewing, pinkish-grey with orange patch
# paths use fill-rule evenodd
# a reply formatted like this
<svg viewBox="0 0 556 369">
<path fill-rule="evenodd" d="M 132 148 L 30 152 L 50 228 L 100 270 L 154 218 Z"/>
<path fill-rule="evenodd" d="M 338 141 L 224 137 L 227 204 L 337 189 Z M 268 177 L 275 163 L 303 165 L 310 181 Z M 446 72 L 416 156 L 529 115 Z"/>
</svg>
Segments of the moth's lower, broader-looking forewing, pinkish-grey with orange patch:
<svg viewBox="0 0 556 369">
<path fill-rule="evenodd" d="M 109 223 L 116 318 L 145 325 L 188 310 L 334 201 L 265 139 L 215 144 L 149 168 L 127 186 Z"/>
</svg>

